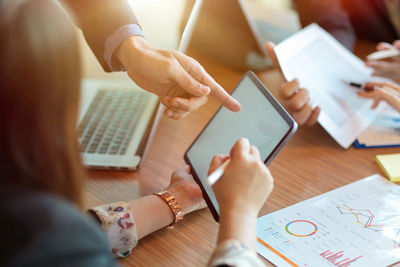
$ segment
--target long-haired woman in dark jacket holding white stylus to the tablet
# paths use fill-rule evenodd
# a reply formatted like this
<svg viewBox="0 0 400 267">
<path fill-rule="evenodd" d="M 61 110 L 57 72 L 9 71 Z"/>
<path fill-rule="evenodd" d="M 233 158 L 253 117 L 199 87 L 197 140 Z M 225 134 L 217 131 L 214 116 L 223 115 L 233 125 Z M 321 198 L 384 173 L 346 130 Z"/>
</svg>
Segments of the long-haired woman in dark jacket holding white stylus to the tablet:
<svg viewBox="0 0 400 267">
<path fill-rule="evenodd" d="M 204 208 L 189 169 L 158 194 L 82 212 L 76 133 L 81 83 L 76 32 L 56 1 L 0 0 L 1 266 L 115 266 L 138 240 Z M 256 217 L 273 188 L 257 148 L 239 139 L 214 185 L 220 205 L 210 266 L 262 266 Z M 169 204 L 165 197 L 174 199 Z"/>
</svg>

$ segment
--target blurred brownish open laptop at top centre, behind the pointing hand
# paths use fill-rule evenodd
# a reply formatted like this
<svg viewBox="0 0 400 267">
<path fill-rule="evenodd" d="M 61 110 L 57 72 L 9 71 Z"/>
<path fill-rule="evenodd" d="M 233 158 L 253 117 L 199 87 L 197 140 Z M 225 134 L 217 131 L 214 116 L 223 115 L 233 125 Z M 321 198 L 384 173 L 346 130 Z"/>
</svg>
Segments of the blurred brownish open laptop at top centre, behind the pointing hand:
<svg viewBox="0 0 400 267">
<path fill-rule="evenodd" d="M 297 16 L 291 11 L 248 2 L 188 0 L 183 24 L 193 12 L 198 12 L 192 8 L 194 3 L 201 5 L 201 9 L 193 23 L 187 47 L 239 71 L 271 66 L 265 42 L 279 43 L 295 33 L 300 28 Z"/>
</svg>

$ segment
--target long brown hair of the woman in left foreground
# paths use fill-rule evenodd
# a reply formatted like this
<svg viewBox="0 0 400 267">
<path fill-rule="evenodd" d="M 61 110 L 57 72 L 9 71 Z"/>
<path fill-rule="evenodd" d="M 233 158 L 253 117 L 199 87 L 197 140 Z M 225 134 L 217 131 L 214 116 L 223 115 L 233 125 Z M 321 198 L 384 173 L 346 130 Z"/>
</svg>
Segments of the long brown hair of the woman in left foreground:
<svg viewBox="0 0 400 267">
<path fill-rule="evenodd" d="M 80 75 L 76 33 L 58 1 L 0 0 L 0 187 L 81 203 Z"/>
</svg>

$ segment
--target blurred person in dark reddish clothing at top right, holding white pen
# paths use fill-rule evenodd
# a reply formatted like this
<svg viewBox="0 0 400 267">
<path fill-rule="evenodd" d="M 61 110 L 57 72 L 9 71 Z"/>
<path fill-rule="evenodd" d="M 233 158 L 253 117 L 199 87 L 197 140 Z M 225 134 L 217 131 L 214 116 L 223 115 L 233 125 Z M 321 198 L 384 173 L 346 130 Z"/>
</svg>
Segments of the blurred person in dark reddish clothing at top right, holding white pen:
<svg viewBox="0 0 400 267">
<path fill-rule="evenodd" d="M 400 0 L 293 0 L 303 27 L 318 23 L 349 50 L 357 39 L 400 49 Z M 373 75 L 400 82 L 400 57 L 367 61 Z"/>
</svg>

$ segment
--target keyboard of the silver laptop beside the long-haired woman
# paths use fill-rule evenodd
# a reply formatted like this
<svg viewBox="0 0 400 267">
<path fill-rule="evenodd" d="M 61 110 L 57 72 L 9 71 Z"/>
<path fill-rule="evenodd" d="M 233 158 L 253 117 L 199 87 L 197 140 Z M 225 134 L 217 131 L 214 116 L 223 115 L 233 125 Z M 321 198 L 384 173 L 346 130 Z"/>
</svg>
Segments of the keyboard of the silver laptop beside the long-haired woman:
<svg viewBox="0 0 400 267">
<path fill-rule="evenodd" d="M 147 98 L 144 91 L 99 90 L 78 126 L 81 152 L 124 155 Z"/>
</svg>

